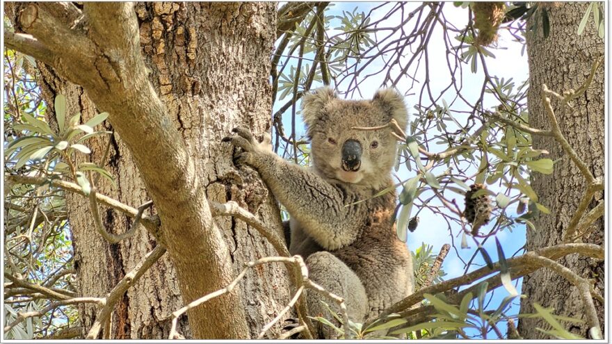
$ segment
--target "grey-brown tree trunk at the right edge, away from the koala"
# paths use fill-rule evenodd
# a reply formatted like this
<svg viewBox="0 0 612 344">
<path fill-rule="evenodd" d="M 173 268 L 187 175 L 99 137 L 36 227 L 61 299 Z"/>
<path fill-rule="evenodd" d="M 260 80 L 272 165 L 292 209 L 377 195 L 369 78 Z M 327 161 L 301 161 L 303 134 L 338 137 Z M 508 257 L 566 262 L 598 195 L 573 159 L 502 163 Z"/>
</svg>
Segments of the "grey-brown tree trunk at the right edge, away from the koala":
<svg viewBox="0 0 612 344">
<path fill-rule="evenodd" d="M 549 22 L 548 38 L 542 35 L 539 24 L 536 33 L 527 36 L 529 53 L 529 122 L 533 128 L 549 129 L 550 124 L 540 99 L 541 85 L 546 84 L 550 90 L 563 92 L 580 87 L 586 80 L 593 62 L 604 54 L 604 41 L 597 36 L 593 16 L 589 18 L 585 31 L 577 35 L 578 24 L 586 12 L 588 3 L 540 3 L 545 6 Z M 541 9 L 540 9 L 541 10 Z M 529 19 L 528 26 L 533 24 L 540 10 Z M 540 23 L 542 21 L 540 20 Z M 584 95 L 574 99 L 574 108 L 563 107 L 554 99 L 552 106 L 556 113 L 561 131 L 578 156 L 589 167 L 595 178 L 604 178 L 604 68 L 600 67 L 595 79 Z M 526 248 L 529 251 L 538 247 L 556 245 L 563 240 L 572 215 L 586 190 L 586 182 L 578 168 L 563 153 L 561 145 L 553 138 L 533 136 L 535 149 L 547 149 L 549 158 L 560 161 L 554 165 L 554 173 L 549 175 L 533 174 L 531 185 L 539 196 L 539 202 L 547 206 L 551 213 L 540 214 L 536 220 L 536 230 L 527 231 Z M 593 208 L 603 193 L 595 194 L 588 209 Z M 604 245 L 604 221 L 597 220 L 592 224 L 590 236 L 584 242 Z M 604 262 L 570 255 L 559 260 L 560 263 L 587 279 L 595 279 L 595 290 L 604 293 Z M 524 277 L 522 293 L 527 295 L 521 302 L 522 313 L 535 313 L 532 304 L 553 307 L 554 313 L 563 316 L 585 319 L 584 306 L 577 288 L 569 281 L 550 270 L 538 270 Z M 599 322 L 604 329 L 604 305 L 595 300 Z M 565 324 L 575 334 L 590 338 L 588 326 L 584 324 Z M 536 327 L 549 329 L 542 319 L 521 318 L 519 331 L 521 336 L 529 339 L 549 338 Z"/>
</svg>

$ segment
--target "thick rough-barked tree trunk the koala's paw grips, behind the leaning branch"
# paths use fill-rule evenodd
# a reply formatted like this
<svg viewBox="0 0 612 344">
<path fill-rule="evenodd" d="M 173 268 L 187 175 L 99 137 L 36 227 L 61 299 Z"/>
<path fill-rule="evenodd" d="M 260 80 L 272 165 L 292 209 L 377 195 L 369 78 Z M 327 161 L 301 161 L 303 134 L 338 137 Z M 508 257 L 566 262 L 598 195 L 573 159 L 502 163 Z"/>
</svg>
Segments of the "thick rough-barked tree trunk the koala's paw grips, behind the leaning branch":
<svg viewBox="0 0 612 344">
<path fill-rule="evenodd" d="M 13 18 L 19 14 L 19 6 L 15 10 Z M 234 200 L 282 236 L 280 213 L 274 199 L 255 172 L 235 169 L 232 148 L 220 143 L 234 126 L 248 127 L 256 135 L 270 129 L 268 76 L 276 33 L 275 3 L 138 3 L 135 10 L 140 26 L 140 47 L 150 69 L 148 79 L 167 110 L 168 120 L 184 140 L 208 199 Z M 19 26 L 16 28 L 18 30 Z M 66 81 L 55 69 L 42 63 L 39 66 L 39 84 L 49 110 L 58 93 L 66 95 L 68 113 L 81 112 L 83 122 L 104 110 L 97 110 L 83 88 Z M 53 112 L 49 111 L 49 122 L 54 122 L 53 117 Z M 108 122 L 105 125 L 108 130 L 112 129 Z M 144 138 L 149 133 L 140 135 Z M 90 141 L 93 162 L 102 159 L 107 142 L 106 137 Z M 151 199 L 150 189 L 147 190 L 140 178 L 130 149 L 118 133 L 111 140 L 111 154 L 105 167 L 115 177 L 118 187 L 113 188 L 100 179 L 99 193 L 134 207 Z M 81 294 L 106 295 L 159 243 L 147 230 L 140 228 L 133 238 L 111 245 L 95 230 L 87 199 L 70 194 L 66 199 Z M 153 211 L 156 212 L 156 208 Z M 106 230 L 115 234 L 127 231 L 132 221 L 110 209 L 104 209 L 102 217 Z M 229 250 L 227 254 L 234 275 L 245 262 L 277 255 L 265 238 L 243 222 L 230 217 L 216 218 L 216 227 L 225 238 L 223 245 Z M 112 318 L 111 338 L 168 337 L 170 321 L 166 317 L 184 305 L 182 293 L 185 292 L 185 286 L 181 287 L 177 281 L 173 258 L 165 254 L 118 302 Z M 188 268 L 195 269 L 196 275 L 202 271 L 197 283 L 204 289 L 218 282 L 211 281 L 202 267 Z M 248 272 L 239 284 L 241 309 L 229 313 L 220 309 L 207 311 L 211 318 L 220 318 L 228 328 L 246 322 L 253 336 L 289 301 L 287 276 L 282 265 L 260 265 Z M 200 296 L 203 295 L 197 297 Z M 79 306 L 79 317 L 84 329 L 89 329 L 95 321 L 95 307 Z M 206 324 L 200 326 L 207 327 Z M 191 338 L 185 317 L 177 329 Z M 278 326 L 273 328 L 277 329 Z M 207 333 L 217 338 L 224 336 L 223 328 L 213 328 Z"/>
</svg>

